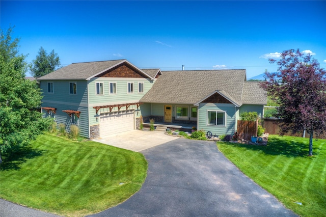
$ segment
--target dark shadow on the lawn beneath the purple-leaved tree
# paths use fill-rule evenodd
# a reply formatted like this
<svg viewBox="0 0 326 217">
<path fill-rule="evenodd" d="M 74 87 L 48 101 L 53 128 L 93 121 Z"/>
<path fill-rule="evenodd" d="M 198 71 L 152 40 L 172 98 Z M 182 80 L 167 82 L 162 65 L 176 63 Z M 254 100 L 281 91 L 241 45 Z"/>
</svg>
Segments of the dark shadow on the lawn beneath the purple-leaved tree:
<svg viewBox="0 0 326 217">
<path fill-rule="evenodd" d="M 293 140 L 289 140 L 286 138 L 268 138 L 267 146 L 256 146 L 256 145 L 248 145 L 248 144 L 239 144 L 238 146 L 253 149 L 253 150 L 261 150 L 265 152 L 265 154 L 269 155 L 285 155 L 288 157 L 306 157 L 309 154 L 309 144 L 305 144 L 303 142 L 297 142 Z M 314 149 L 316 150 L 316 149 Z M 317 152 L 314 151 L 314 155 Z"/>
</svg>

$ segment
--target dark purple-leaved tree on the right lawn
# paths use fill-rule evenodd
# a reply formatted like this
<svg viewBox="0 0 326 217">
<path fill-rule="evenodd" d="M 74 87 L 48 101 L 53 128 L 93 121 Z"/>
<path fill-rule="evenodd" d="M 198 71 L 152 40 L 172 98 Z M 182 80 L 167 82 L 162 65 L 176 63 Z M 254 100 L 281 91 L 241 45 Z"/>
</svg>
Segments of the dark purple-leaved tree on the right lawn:
<svg viewBox="0 0 326 217">
<path fill-rule="evenodd" d="M 269 59 L 279 65 L 278 72 L 265 72 L 267 82 L 261 84 L 280 107 L 277 116 L 283 135 L 306 130 L 310 134 L 309 156 L 312 155 L 313 133 L 326 131 L 326 71 L 317 60 L 299 49 L 285 50 L 281 59 Z"/>
</svg>

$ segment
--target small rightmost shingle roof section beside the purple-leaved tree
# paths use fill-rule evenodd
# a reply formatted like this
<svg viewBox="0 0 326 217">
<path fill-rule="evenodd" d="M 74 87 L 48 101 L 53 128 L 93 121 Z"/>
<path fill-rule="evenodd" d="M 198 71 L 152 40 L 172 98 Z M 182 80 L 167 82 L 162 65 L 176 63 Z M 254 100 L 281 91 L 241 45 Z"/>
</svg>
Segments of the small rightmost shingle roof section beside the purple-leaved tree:
<svg viewBox="0 0 326 217">
<path fill-rule="evenodd" d="M 242 103 L 243 104 L 267 104 L 267 95 L 260 86 L 260 82 L 244 82 Z"/>
</svg>

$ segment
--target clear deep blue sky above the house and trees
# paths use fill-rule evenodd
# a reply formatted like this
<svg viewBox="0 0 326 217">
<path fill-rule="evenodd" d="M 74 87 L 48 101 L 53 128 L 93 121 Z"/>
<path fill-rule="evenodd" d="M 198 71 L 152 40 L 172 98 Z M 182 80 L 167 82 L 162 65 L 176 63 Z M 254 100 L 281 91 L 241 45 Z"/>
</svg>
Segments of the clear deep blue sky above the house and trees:
<svg viewBox="0 0 326 217">
<path fill-rule="evenodd" d="M 62 65 L 127 59 L 161 70 L 277 66 L 286 49 L 326 68 L 326 1 L 0 1 L 1 29 L 15 26 L 32 62 L 42 46 Z M 27 74 L 29 75 L 29 74 Z"/>
</svg>

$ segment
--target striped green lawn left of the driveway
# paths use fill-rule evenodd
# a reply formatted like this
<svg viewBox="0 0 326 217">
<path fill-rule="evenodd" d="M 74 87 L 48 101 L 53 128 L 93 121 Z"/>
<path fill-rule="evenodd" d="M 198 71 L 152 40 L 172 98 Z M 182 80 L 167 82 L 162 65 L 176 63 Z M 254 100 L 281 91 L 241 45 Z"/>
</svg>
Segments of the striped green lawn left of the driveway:
<svg viewBox="0 0 326 217">
<path fill-rule="evenodd" d="M 147 174 L 141 153 L 50 134 L 3 159 L 1 198 L 65 216 L 84 216 L 125 201 Z"/>
</svg>

